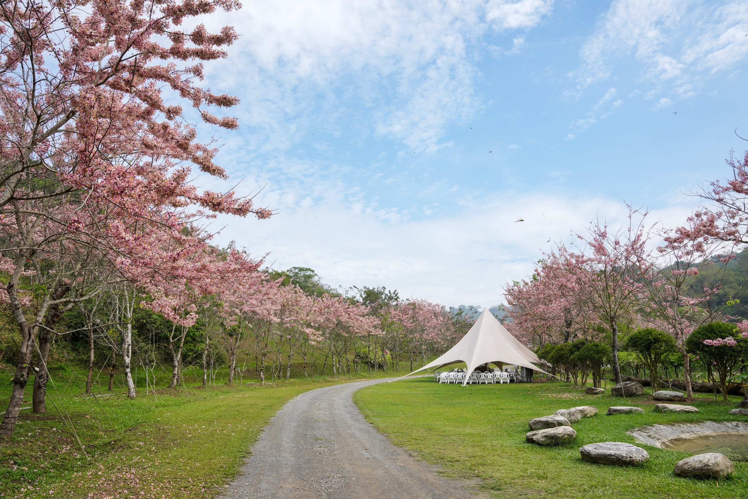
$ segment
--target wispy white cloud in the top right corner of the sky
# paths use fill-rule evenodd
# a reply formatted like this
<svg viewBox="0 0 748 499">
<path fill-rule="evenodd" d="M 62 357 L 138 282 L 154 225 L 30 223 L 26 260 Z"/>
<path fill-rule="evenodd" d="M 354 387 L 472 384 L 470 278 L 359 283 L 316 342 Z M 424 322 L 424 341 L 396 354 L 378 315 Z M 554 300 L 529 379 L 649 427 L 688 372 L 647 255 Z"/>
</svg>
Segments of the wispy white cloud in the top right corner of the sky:
<svg viewBox="0 0 748 499">
<path fill-rule="evenodd" d="M 744 0 L 615 0 L 580 49 L 572 73 L 579 96 L 615 74 L 616 60 L 633 56 L 648 85 L 690 97 L 709 76 L 748 58 L 748 2 Z"/>
</svg>

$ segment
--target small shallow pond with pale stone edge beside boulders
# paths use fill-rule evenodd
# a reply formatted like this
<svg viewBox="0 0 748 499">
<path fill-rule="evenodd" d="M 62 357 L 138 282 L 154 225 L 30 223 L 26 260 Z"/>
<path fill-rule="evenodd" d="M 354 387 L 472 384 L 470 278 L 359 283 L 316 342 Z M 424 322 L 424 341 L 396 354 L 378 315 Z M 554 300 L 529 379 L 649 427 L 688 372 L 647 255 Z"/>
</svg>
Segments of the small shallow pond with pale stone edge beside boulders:
<svg viewBox="0 0 748 499">
<path fill-rule="evenodd" d="M 733 461 L 748 462 L 748 423 L 740 421 L 653 424 L 628 433 L 641 444 L 660 449 L 692 454 L 716 452 Z"/>
</svg>

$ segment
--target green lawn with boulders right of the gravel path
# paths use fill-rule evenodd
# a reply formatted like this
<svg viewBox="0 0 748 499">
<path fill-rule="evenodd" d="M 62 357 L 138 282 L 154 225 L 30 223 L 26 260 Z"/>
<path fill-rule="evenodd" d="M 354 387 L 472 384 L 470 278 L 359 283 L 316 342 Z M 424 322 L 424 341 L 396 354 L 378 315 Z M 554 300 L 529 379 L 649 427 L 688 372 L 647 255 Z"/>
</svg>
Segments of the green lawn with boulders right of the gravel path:
<svg viewBox="0 0 748 499">
<path fill-rule="evenodd" d="M 649 388 L 646 388 L 649 393 Z M 634 443 L 626 432 L 652 423 L 748 420 L 733 416 L 730 402 L 699 394 L 698 414 L 660 414 L 651 397 L 622 399 L 586 395 L 562 382 L 511 385 L 440 385 L 432 379 L 404 380 L 364 388 L 354 399 L 374 426 L 394 444 L 414 451 L 445 473 L 479 477 L 502 498 L 738 498 L 748 496 L 748 462 L 735 462 L 729 480 L 675 477 L 672 468 L 687 453 L 640 445 L 649 452 L 643 465 L 622 468 L 580 459 L 579 447 L 602 441 Z M 647 403 L 649 402 L 649 403 Z M 598 415 L 572 425 L 573 444 L 527 444 L 528 420 L 561 408 L 594 405 Z M 634 405 L 644 414 L 606 416 L 610 405 Z"/>
</svg>

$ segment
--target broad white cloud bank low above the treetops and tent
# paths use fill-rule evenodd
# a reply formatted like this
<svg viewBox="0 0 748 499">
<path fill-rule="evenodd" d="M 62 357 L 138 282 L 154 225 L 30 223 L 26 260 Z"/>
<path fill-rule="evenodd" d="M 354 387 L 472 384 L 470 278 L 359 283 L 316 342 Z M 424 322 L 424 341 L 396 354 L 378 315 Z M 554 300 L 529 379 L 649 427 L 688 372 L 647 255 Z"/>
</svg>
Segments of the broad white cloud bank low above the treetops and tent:
<svg viewBox="0 0 748 499">
<path fill-rule="evenodd" d="M 626 212 L 619 200 L 583 194 L 503 192 L 466 199 L 450 215 L 389 218 L 328 187 L 311 206 L 283 204 L 270 220 L 221 217 L 216 225 L 228 224 L 218 242 L 235 239 L 254 254 L 270 250 L 267 263 L 275 268 L 309 266 L 334 286 L 384 285 L 404 297 L 488 305 L 502 301 L 503 284 L 528 275 L 551 242 L 574 242 L 571 231 L 583 230 L 595 216 L 613 226 Z M 270 186 L 265 198 L 283 193 Z M 675 207 L 652 219 L 679 221 L 687 212 Z M 519 218 L 524 221 L 515 222 Z"/>
</svg>

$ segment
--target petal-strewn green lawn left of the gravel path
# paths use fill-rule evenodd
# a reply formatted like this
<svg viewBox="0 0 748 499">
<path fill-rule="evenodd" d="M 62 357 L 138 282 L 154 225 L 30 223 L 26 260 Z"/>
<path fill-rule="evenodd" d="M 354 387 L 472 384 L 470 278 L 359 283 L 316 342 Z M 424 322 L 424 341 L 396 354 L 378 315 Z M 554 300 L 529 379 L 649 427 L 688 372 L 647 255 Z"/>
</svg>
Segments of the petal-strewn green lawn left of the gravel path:
<svg viewBox="0 0 748 499">
<path fill-rule="evenodd" d="M 49 387 L 49 413 L 21 411 L 13 439 L 0 441 L 0 498 L 211 498 L 236 476 L 260 429 L 289 399 L 334 383 L 393 376 L 162 388 L 156 397 L 139 391 L 130 400 L 121 389 L 84 397 L 82 379 L 68 382 L 63 374 L 56 376 L 61 397 Z M 9 392 L 0 388 L 6 406 Z M 30 400 L 31 383 L 26 392 Z M 70 414 L 88 457 L 52 402 Z"/>
</svg>

